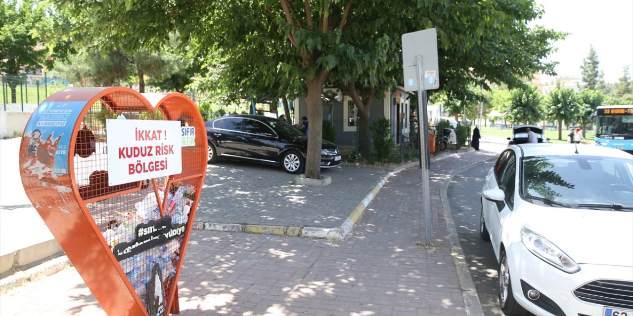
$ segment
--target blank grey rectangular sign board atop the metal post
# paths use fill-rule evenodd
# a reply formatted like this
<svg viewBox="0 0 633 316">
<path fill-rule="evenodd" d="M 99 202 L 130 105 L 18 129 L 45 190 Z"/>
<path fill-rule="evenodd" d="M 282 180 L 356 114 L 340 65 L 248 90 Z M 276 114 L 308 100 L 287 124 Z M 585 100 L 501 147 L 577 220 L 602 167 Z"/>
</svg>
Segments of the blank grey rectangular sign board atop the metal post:
<svg viewBox="0 0 633 316">
<path fill-rule="evenodd" d="M 437 30 L 429 28 L 402 35 L 402 61 L 404 70 L 404 90 L 417 91 L 417 58 L 422 56 L 423 90 L 439 88 L 439 66 L 437 65 Z"/>
</svg>

